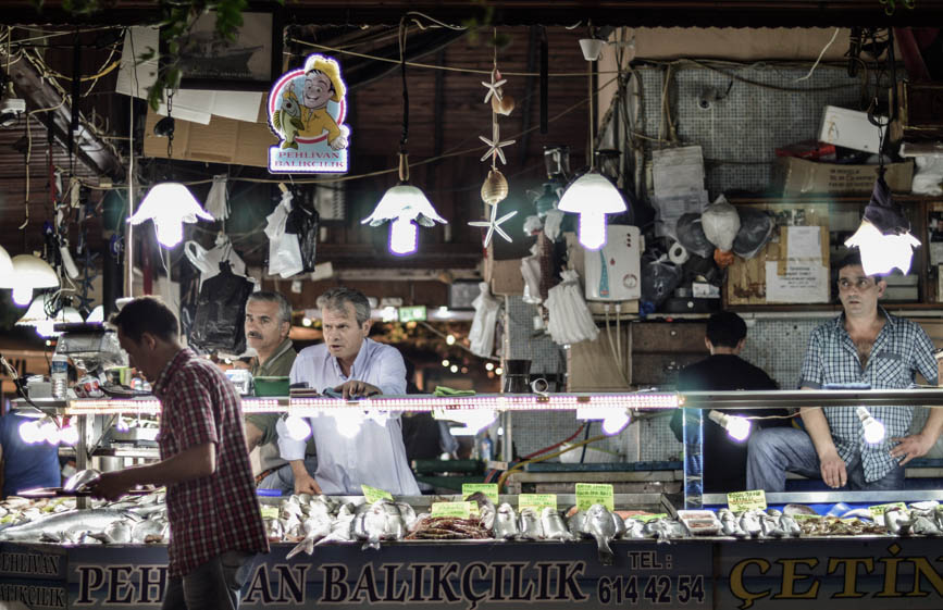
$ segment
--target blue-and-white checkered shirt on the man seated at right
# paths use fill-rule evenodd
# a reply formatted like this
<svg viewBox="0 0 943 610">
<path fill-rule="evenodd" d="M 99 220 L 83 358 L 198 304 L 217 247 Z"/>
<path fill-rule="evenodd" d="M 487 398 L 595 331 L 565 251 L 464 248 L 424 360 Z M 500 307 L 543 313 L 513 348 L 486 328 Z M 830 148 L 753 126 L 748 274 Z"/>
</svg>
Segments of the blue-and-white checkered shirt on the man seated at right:
<svg viewBox="0 0 943 610">
<path fill-rule="evenodd" d="M 874 389 L 903 389 L 914 384 L 919 372 L 931 385 L 936 385 L 936 360 L 933 344 L 918 324 L 889 314 L 879 313 L 886 323 L 878 334 L 865 370 L 858 360 L 858 350 L 845 331 L 845 314 L 826 322 L 809 337 L 809 349 L 803 361 L 799 387 L 822 388 L 826 384 L 866 383 Z M 883 443 L 865 443 L 865 430 L 855 409 L 826 407 L 832 439 L 845 463 L 861 455 L 866 481 L 877 481 L 893 470 L 897 462 L 891 458 L 891 439 L 907 435 L 913 407 L 870 407 L 876 420 L 884 424 Z"/>
</svg>

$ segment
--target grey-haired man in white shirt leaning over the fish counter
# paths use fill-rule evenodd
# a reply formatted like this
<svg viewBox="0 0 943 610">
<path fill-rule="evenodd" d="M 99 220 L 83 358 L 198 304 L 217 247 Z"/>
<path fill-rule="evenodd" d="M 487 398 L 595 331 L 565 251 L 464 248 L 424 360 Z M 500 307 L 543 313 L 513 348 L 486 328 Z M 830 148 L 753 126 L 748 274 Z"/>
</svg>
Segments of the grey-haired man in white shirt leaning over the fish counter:
<svg viewBox="0 0 943 610">
<path fill-rule="evenodd" d="M 406 364 L 396 348 L 370 334 L 370 302 L 359 290 L 332 288 L 319 299 L 324 343 L 298 353 L 291 383 L 333 389 L 344 398 L 406 394 Z M 361 484 L 398 496 L 418 496 L 409 469 L 399 413 L 321 414 L 309 419 L 318 449 L 318 471 L 305 468 L 305 441 L 278 421 L 278 449 L 295 473 L 295 493 L 360 495 Z"/>
</svg>

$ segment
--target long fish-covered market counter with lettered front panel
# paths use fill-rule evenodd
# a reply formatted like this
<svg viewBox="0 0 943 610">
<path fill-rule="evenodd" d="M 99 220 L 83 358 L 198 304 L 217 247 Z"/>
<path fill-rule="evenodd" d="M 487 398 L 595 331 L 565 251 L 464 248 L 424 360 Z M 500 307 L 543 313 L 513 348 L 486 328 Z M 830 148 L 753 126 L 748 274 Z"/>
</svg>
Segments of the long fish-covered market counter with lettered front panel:
<svg viewBox="0 0 943 610">
<path fill-rule="evenodd" d="M 474 499 L 477 514 L 461 518 L 429 512 L 457 498 L 264 498 L 273 541 L 243 587 L 243 608 L 762 610 L 821 601 L 863 610 L 936 609 L 943 599 L 939 530 L 918 526 L 940 510 L 926 500 L 857 533 L 789 527 L 784 516 L 816 520 L 798 519 L 815 511 L 806 505 L 728 516 L 675 511 L 657 495 L 617 495 L 615 512 L 573 511 L 574 496 L 557 499 L 560 511 L 539 513 L 520 509 L 519 497 Z M 0 600 L 160 607 L 161 507 L 160 494 L 86 510 L 66 500 L 5 502 L 4 516 L 38 518 L 0 532 Z M 158 525 L 140 525 L 150 521 Z"/>
</svg>

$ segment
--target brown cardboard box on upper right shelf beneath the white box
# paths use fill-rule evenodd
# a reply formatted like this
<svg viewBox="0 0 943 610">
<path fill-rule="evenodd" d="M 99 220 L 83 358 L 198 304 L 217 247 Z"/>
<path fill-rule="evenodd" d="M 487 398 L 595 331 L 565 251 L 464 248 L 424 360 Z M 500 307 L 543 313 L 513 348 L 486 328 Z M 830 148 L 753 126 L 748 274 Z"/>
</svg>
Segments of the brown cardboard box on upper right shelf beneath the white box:
<svg viewBox="0 0 943 610">
<path fill-rule="evenodd" d="M 888 163 L 884 179 L 894 192 L 910 192 L 914 163 Z M 878 165 L 816 163 L 795 157 L 778 157 L 772 170 L 772 186 L 783 195 L 809 192 L 871 192 Z"/>
</svg>

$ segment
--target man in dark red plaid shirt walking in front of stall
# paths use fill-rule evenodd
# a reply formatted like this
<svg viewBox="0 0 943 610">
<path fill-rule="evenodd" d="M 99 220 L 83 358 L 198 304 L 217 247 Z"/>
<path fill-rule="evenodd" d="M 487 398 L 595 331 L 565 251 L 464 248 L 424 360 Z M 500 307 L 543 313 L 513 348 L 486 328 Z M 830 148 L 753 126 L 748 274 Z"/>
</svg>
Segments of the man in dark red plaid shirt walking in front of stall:
<svg viewBox="0 0 943 610">
<path fill-rule="evenodd" d="M 165 485 L 171 541 L 163 608 L 237 609 L 255 553 L 268 552 L 239 395 L 211 362 L 181 346 L 173 312 L 152 297 L 112 322 L 131 363 L 161 401 L 161 461 L 107 472 L 97 496 Z"/>
</svg>

